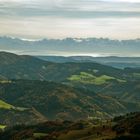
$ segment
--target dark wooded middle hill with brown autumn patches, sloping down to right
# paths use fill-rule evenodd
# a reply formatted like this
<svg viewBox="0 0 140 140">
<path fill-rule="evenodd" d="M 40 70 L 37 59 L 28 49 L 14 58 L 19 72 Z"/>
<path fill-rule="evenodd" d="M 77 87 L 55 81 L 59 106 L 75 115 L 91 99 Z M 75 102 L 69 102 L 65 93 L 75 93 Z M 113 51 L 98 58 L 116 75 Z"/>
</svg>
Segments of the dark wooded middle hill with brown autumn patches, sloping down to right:
<svg viewBox="0 0 140 140">
<path fill-rule="evenodd" d="M 13 80 L 0 84 L 0 97 L 14 106 L 34 107 L 49 120 L 111 118 L 139 110 L 137 102 L 123 102 L 109 95 L 54 82 Z M 8 117 L 8 116 L 7 116 Z"/>
</svg>

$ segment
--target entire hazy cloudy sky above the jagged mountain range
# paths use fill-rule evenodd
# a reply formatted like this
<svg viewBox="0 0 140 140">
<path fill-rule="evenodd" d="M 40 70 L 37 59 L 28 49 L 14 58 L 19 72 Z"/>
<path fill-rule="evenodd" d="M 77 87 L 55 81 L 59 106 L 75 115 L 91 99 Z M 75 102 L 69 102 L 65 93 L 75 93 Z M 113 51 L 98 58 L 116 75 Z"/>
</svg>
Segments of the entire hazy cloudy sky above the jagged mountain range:
<svg viewBox="0 0 140 140">
<path fill-rule="evenodd" d="M 0 0 L 0 36 L 140 38 L 140 0 Z"/>
</svg>

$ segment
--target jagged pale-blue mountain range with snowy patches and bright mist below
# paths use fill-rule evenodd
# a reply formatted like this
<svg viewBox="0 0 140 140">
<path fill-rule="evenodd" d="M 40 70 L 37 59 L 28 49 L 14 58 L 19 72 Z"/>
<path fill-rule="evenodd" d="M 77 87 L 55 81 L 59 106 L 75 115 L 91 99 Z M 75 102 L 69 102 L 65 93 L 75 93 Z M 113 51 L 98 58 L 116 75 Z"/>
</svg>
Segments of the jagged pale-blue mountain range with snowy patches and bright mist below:
<svg viewBox="0 0 140 140">
<path fill-rule="evenodd" d="M 0 50 L 30 55 L 140 57 L 140 39 L 119 41 L 104 38 L 66 38 L 28 41 L 0 37 Z"/>
</svg>

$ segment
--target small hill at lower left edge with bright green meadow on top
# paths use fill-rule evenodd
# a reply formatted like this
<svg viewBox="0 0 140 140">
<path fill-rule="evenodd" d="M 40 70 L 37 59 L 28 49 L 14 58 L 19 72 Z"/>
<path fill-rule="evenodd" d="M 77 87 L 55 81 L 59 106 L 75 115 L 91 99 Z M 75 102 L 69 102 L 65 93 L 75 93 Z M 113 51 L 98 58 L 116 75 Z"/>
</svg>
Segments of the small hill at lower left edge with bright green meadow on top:
<svg viewBox="0 0 140 140">
<path fill-rule="evenodd" d="M 0 97 L 1 99 L 1 97 Z M 19 104 L 19 106 L 21 106 Z M 38 115 L 33 108 L 13 106 L 3 100 L 0 100 L 0 129 L 19 124 L 34 124 L 44 122 L 47 119 Z"/>
</svg>

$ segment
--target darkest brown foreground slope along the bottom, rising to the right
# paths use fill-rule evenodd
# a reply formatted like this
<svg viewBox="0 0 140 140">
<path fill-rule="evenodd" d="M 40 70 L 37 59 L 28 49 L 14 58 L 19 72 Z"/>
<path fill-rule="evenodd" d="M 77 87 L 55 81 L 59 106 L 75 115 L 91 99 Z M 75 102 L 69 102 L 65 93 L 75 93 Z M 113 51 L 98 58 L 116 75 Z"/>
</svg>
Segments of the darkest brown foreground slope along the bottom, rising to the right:
<svg viewBox="0 0 140 140">
<path fill-rule="evenodd" d="M 1 140 L 139 140 L 140 113 L 114 120 L 48 121 L 32 126 L 16 126 L 0 134 Z"/>
</svg>

